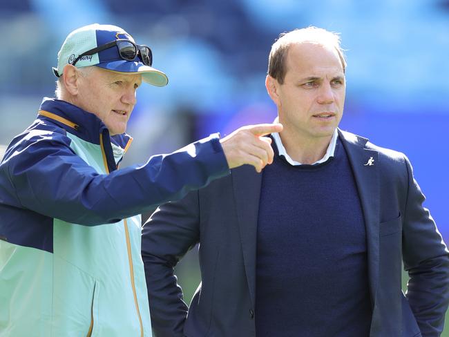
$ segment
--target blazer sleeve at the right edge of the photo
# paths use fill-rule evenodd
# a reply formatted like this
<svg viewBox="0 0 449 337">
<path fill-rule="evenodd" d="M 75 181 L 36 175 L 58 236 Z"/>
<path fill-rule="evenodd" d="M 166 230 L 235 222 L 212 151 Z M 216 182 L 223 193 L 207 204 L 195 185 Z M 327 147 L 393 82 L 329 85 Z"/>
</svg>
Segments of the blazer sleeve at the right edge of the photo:
<svg viewBox="0 0 449 337">
<path fill-rule="evenodd" d="M 425 337 L 440 336 L 449 302 L 449 254 L 446 244 L 423 207 L 424 195 L 405 157 L 408 193 L 403 219 L 403 262 L 408 271 L 406 296 Z"/>
</svg>

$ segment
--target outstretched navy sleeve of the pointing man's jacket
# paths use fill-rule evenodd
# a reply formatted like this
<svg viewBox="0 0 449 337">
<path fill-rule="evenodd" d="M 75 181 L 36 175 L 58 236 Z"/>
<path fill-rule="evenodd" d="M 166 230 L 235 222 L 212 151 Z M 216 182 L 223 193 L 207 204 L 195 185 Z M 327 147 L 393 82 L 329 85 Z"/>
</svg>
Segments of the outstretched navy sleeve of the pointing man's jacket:
<svg viewBox="0 0 449 337">
<path fill-rule="evenodd" d="M 68 142 L 41 133 L 8 152 L 1 170 L 10 187 L 1 194 L 25 209 L 90 226 L 155 209 L 229 173 L 218 136 L 108 175 L 97 173 Z"/>
</svg>

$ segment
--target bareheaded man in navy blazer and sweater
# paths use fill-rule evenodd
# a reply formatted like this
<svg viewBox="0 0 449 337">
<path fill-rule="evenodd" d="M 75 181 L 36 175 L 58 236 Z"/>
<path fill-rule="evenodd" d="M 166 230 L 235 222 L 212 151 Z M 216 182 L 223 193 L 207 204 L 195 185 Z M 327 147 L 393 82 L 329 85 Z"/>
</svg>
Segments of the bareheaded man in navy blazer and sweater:
<svg viewBox="0 0 449 337">
<path fill-rule="evenodd" d="M 266 80 L 284 126 L 273 163 L 153 213 L 142 258 L 155 336 L 440 336 L 448 250 L 407 157 L 338 129 L 345 67 L 338 35 L 281 35 Z M 198 242 L 187 307 L 173 267 Z"/>
</svg>

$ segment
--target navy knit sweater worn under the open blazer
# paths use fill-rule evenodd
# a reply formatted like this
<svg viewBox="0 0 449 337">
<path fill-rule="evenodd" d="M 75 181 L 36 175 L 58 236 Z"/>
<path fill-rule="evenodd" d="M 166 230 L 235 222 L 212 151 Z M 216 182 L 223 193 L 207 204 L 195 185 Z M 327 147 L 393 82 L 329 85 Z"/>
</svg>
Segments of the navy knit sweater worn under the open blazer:
<svg viewBox="0 0 449 337">
<path fill-rule="evenodd" d="M 365 223 L 344 147 L 313 166 L 276 155 L 262 176 L 256 336 L 368 336 L 371 314 Z"/>
</svg>

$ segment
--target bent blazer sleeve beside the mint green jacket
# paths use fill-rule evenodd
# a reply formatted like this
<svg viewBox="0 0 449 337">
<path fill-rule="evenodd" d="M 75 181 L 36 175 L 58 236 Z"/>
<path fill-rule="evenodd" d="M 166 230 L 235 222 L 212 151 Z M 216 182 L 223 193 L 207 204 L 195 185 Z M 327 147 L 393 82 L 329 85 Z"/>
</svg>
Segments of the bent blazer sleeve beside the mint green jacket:
<svg viewBox="0 0 449 337">
<path fill-rule="evenodd" d="M 188 307 L 174 267 L 199 242 L 199 227 L 198 191 L 179 202 L 163 204 L 144 225 L 142 259 L 156 337 L 184 336 Z"/>
</svg>

